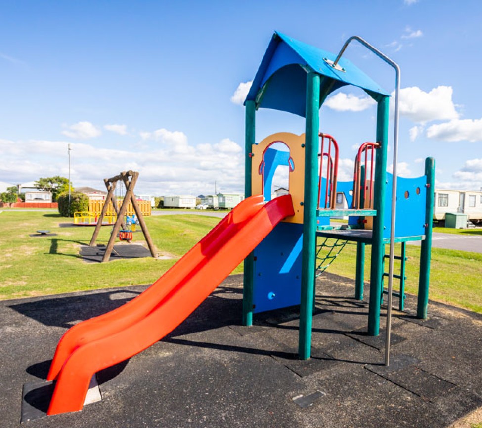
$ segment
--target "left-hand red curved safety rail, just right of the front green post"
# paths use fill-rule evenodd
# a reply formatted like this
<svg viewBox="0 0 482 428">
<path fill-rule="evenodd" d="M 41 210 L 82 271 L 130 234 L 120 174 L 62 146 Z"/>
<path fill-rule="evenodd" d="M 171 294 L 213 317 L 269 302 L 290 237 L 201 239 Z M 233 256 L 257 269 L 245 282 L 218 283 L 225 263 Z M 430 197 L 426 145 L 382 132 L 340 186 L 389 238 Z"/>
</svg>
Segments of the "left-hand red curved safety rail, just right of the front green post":
<svg viewBox="0 0 482 428">
<path fill-rule="evenodd" d="M 321 152 L 320 157 L 320 173 L 318 182 L 318 208 L 319 209 L 335 209 L 336 208 L 336 184 L 338 179 L 338 143 L 328 134 L 320 132 Z M 325 139 L 327 140 L 327 151 L 325 151 Z M 333 151 L 332 151 L 333 146 Z M 326 171 L 323 171 L 323 159 L 326 157 Z M 323 173 L 326 172 L 325 200 L 321 201 L 321 182 Z M 323 204 L 323 205 L 322 205 Z"/>
</svg>

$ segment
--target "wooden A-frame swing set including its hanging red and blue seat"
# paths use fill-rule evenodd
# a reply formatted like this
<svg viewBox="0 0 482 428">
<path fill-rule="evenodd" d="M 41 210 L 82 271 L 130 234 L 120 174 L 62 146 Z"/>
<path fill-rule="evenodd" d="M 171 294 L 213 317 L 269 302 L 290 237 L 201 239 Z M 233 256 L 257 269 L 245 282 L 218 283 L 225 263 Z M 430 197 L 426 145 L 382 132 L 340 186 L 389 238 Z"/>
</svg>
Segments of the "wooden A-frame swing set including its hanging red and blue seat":
<svg viewBox="0 0 482 428">
<path fill-rule="evenodd" d="M 109 261 L 112 250 L 114 249 L 114 243 L 117 236 L 119 236 L 120 240 L 126 240 L 128 242 L 131 241 L 133 231 L 132 227 L 134 227 L 135 230 L 136 223 L 139 224 L 142 233 L 144 234 L 144 238 L 146 239 L 147 246 L 149 247 L 149 251 L 151 252 L 152 257 L 156 257 L 156 249 L 154 247 L 154 243 L 152 242 L 149 231 L 147 230 L 144 217 L 142 216 L 142 211 L 139 208 L 139 205 L 135 200 L 134 196 L 134 187 L 138 177 L 139 173 L 137 171 L 123 171 L 115 177 L 104 179 L 105 187 L 107 188 L 107 196 L 102 206 L 102 211 L 97 218 L 94 233 L 92 234 L 92 238 L 90 239 L 89 243 L 89 246 L 95 245 L 95 241 L 99 235 L 100 228 L 102 227 L 102 225 L 105 225 L 104 218 L 115 218 L 114 227 L 112 228 L 109 242 L 105 247 L 105 253 L 102 257 L 102 262 Z M 122 199 L 121 206 L 119 208 L 117 205 L 117 198 L 115 197 L 118 182 L 121 182 L 126 187 L 126 193 L 124 195 L 124 198 Z M 132 207 L 135 214 L 128 211 L 129 206 Z M 112 212 L 108 211 L 110 207 L 114 209 L 115 216 Z"/>
</svg>

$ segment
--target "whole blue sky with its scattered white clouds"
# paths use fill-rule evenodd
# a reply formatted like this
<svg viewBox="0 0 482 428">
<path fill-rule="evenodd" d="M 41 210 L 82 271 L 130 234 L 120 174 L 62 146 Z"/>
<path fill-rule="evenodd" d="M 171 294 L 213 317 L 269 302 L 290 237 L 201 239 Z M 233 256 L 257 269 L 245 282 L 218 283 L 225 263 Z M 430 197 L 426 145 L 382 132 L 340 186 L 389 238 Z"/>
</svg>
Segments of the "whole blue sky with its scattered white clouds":
<svg viewBox="0 0 482 428">
<path fill-rule="evenodd" d="M 102 189 L 134 169 L 137 193 L 213 193 L 215 180 L 243 191 L 240 100 L 278 30 L 335 53 L 358 35 L 390 56 L 402 73 L 400 175 L 422 175 L 434 156 L 439 188 L 479 190 L 481 22 L 475 0 L 2 2 L 0 182 L 67 176 L 71 143 L 74 186 Z M 365 48 L 345 56 L 394 89 Z M 348 179 L 356 146 L 375 138 L 375 107 L 347 87 L 325 104 L 321 130 Z M 260 110 L 257 126 L 258 140 L 304 132 L 277 111 Z"/>
</svg>

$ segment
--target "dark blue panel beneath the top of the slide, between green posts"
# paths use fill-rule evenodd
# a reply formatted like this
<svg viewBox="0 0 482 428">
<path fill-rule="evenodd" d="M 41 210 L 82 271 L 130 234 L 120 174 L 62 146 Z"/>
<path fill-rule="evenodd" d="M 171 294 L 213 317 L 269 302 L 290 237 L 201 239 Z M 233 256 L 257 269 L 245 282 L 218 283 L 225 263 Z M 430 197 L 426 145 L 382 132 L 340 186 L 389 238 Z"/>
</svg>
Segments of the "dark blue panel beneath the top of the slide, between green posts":
<svg viewBox="0 0 482 428">
<path fill-rule="evenodd" d="M 254 313 L 300 304 L 303 225 L 279 223 L 254 250 Z"/>
</svg>

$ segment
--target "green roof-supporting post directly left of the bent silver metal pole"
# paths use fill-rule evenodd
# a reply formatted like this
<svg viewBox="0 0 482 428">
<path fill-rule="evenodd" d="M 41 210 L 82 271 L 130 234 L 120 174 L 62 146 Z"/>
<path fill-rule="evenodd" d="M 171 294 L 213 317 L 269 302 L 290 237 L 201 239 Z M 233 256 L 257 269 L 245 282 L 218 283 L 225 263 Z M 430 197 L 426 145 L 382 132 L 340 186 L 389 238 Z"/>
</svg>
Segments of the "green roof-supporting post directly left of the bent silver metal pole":
<svg viewBox="0 0 482 428">
<path fill-rule="evenodd" d="M 375 157 L 375 188 L 373 208 L 377 211 L 373 218 L 372 256 L 370 270 L 370 302 L 368 309 L 368 335 L 378 336 L 380 328 L 380 297 L 383 278 L 383 216 L 385 212 L 385 187 L 387 179 L 389 97 L 378 101 L 377 142 L 380 148 Z"/>
</svg>

